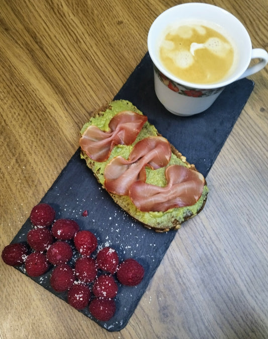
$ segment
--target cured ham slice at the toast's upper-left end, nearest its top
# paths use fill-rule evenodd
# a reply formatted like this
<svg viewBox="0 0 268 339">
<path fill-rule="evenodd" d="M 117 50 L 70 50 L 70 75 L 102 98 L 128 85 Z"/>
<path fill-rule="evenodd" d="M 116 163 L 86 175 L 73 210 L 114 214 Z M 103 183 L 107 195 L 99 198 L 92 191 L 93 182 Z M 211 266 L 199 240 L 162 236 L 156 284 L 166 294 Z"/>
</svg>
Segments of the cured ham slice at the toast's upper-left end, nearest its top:
<svg viewBox="0 0 268 339">
<path fill-rule="evenodd" d="M 146 121 L 146 116 L 124 110 L 111 119 L 108 132 L 88 126 L 79 140 L 80 147 L 91 159 L 106 161 L 115 145 L 131 145 Z"/>
</svg>

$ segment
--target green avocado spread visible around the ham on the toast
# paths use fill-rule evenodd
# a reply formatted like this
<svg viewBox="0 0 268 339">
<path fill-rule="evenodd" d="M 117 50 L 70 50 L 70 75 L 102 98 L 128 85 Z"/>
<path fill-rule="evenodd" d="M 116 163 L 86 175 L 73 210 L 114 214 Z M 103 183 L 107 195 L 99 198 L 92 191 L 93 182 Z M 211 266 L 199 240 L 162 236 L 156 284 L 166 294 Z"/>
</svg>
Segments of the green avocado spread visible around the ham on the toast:
<svg viewBox="0 0 268 339">
<path fill-rule="evenodd" d="M 110 103 L 110 109 L 108 108 L 105 112 L 101 112 L 97 117 L 93 117 L 90 119 L 88 123 L 86 123 L 82 129 L 81 134 L 86 130 L 89 125 L 96 125 L 103 131 L 109 131 L 109 123 L 111 119 L 123 110 L 132 110 L 137 112 L 138 114 L 142 114 L 142 112 L 135 107 L 131 102 L 126 100 L 116 100 Z M 90 167 L 94 172 L 95 176 L 98 177 L 100 183 L 104 185 L 104 170 L 108 162 L 115 156 L 122 156 L 124 158 L 128 158 L 130 152 L 133 149 L 133 146 L 140 141 L 149 136 L 156 136 L 157 130 L 155 127 L 148 122 L 143 125 L 142 130 L 137 136 L 135 142 L 129 146 L 126 145 L 117 145 L 113 148 L 110 157 L 107 161 L 97 162 L 90 159 L 86 154 L 81 152 L 81 157 L 86 160 L 86 162 L 90 163 Z M 167 166 L 171 164 L 178 164 L 183 166 L 188 166 L 184 161 L 180 158 L 177 158 L 173 153 L 171 155 L 171 159 Z M 146 182 L 149 184 L 157 185 L 157 186 L 165 186 L 166 178 L 165 178 L 165 169 L 166 167 L 158 168 L 157 170 L 152 170 L 149 167 L 146 167 Z M 200 199 L 192 206 L 187 207 L 178 207 L 171 208 L 165 212 L 141 212 L 138 210 L 135 205 L 132 203 L 128 196 L 121 196 L 119 201 L 116 202 L 127 212 L 132 215 L 135 219 L 138 219 L 145 225 L 150 225 L 159 230 L 163 229 L 167 231 L 171 228 L 179 228 L 180 224 L 188 219 L 191 216 L 194 216 L 202 209 L 204 201 L 206 200 L 208 194 L 207 185 L 204 186 L 203 194 Z"/>
</svg>

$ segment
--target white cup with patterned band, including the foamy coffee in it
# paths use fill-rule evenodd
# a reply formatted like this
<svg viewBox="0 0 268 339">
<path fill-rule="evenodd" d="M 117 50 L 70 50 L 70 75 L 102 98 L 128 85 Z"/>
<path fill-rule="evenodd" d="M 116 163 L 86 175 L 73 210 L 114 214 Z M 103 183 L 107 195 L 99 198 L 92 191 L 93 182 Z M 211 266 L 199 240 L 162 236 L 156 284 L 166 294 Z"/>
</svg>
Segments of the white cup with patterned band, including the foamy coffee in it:
<svg viewBox="0 0 268 339">
<path fill-rule="evenodd" d="M 147 42 L 156 96 L 178 116 L 203 112 L 227 85 L 268 62 L 264 49 L 252 49 L 247 30 L 235 16 L 203 3 L 177 5 L 160 14 Z M 249 67 L 252 59 L 258 61 Z"/>
</svg>

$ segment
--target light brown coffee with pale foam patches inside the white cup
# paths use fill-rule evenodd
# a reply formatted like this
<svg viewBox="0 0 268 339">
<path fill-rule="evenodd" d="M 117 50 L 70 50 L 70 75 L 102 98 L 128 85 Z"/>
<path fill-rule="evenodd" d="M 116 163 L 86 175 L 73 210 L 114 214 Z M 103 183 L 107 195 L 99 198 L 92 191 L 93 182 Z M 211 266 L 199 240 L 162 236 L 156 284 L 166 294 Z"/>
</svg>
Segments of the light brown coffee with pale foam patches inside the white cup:
<svg viewBox="0 0 268 339">
<path fill-rule="evenodd" d="M 176 78 L 191 83 L 224 80 L 231 73 L 234 54 L 230 39 L 217 27 L 203 22 L 169 26 L 160 39 L 163 67 Z"/>
</svg>

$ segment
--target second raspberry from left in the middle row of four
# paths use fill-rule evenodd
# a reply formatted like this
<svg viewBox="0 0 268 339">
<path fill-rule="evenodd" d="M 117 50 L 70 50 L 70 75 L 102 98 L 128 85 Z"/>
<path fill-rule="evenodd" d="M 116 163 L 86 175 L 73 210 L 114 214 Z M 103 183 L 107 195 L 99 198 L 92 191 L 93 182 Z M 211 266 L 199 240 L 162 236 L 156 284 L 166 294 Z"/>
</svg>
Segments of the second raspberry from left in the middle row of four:
<svg viewBox="0 0 268 339">
<path fill-rule="evenodd" d="M 56 241 L 47 250 L 47 259 L 53 265 L 66 263 L 72 257 L 72 248 L 65 241 Z"/>
</svg>

